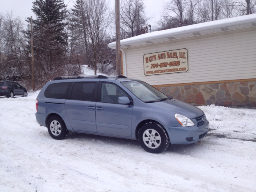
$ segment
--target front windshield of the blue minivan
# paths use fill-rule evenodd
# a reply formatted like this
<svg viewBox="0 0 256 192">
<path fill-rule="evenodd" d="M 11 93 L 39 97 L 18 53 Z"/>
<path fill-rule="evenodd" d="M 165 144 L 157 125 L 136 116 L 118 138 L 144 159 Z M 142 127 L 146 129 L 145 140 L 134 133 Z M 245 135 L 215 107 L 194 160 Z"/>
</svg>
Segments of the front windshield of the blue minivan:
<svg viewBox="0 0 256 192">
<path fill-rule="evenodd" d="M 168 96 L 143 81 L 126 81 L 122 82 L 122 84 L 145 103 L 170 99 Z"/>
</svg>

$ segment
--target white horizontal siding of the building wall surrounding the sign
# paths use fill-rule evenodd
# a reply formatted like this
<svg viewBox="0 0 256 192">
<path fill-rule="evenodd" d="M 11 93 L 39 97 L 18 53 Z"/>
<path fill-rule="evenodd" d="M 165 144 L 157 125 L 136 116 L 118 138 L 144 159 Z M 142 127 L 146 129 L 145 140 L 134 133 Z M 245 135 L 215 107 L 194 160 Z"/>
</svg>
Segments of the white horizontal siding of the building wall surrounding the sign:
<svg viewBox="0 0 256 192">
<path fill-rule="evenodd" d="M 188 49 L 189 72 L 144 75 L 144 54 L 182 48 Z M 256 27 L 123 50 L 126 52 L 127 77 L 151 85 L 256 78 Z"/>
</svg>

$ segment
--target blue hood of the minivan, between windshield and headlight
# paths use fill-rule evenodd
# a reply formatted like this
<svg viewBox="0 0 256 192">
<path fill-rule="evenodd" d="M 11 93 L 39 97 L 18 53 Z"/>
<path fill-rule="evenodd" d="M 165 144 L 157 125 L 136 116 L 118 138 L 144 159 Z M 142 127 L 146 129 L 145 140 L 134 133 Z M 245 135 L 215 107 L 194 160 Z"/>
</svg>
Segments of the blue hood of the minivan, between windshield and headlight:
<svg viewBox="0 0 256 192">
<path fill-rule="evenodd" d="M 161 102 L 155 102 L 155 103 L 148 103 L 154 108 L 158 108 L 159 110 L 165 110 L 170 113 L 170 111 L 173 112 L 173 114 L 180 114 L 184 115 L 190 119 L 196 118 L 198 116 L 201 116 L 204 114 L 202 110 L 197 108 L 196 106 L 192 106 L 190 104 L 187 104 L 182 101 L 178 101 L 175 99 L 165 100 Z"/>
</svg>

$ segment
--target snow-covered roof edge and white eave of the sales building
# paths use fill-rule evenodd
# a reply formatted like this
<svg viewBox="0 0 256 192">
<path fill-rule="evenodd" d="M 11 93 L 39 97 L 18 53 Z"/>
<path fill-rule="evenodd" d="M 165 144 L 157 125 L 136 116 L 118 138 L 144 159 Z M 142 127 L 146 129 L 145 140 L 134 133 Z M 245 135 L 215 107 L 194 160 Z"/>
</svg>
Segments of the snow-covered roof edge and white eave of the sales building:
<svg viewBox="0 0 256 192">
<path fill-rule="evenodd" d="M 212 34 L 228 30 L 237 30 L 256 26 L 256 14 L 244 15 L 234 18 L 198 23 L 178 28 L 156 31 L 121 40 L 121 48 L 140 46 L 145 44 L 170 41 L 192 36 Z M 108 44 L 115 49 L 116 42 Z"/>
</svg>

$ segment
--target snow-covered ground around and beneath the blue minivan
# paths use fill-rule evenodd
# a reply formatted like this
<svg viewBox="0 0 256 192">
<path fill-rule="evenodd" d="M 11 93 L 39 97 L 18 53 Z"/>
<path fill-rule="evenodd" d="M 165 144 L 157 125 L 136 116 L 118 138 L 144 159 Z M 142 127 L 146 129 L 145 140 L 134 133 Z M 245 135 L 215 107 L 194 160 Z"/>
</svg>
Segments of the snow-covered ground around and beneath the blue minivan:
<svg viewBox="0 0 256 192">
<path fill-rule="evenodd" d="M 54 140 L 36 122 L 35 98 L 0 98 L 1 192 L 255 192 L 256 110 L 203 106 L 205 138 L 150 154 L 134 140 Z"/>
</svg>

